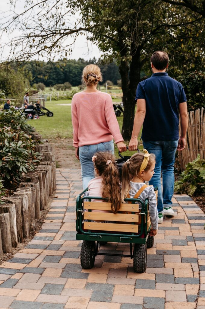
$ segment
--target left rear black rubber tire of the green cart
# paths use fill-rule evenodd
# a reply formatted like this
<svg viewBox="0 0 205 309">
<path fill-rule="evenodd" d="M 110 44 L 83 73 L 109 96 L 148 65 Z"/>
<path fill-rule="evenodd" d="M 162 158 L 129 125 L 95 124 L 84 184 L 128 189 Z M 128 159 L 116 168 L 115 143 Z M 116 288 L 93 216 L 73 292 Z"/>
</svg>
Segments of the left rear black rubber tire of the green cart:
<svg viewBox="0 0 205 309">
<path fill-rule="evenodd" d="M 84 269 L 90 269 L 95 262 L 95 241 L 83 240 L 81 246 L 81 266 Z"/>
</svg>

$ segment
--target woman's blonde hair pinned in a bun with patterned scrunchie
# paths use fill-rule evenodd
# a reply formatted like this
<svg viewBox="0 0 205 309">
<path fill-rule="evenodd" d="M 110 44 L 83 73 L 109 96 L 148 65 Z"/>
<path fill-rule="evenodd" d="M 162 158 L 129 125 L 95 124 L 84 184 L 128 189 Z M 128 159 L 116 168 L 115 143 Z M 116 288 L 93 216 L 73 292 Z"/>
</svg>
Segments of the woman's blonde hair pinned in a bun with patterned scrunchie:
<svg viewBox="0 0 205 309">
<path fill-rule="evenodd" d="M 102 82 L 102 74 L 100 68 L 95 64 L 89 64 L 85 66 L 82 72 L 82 82 L 86 86 L 94 86 L 98 82 Z"/>
</svg>

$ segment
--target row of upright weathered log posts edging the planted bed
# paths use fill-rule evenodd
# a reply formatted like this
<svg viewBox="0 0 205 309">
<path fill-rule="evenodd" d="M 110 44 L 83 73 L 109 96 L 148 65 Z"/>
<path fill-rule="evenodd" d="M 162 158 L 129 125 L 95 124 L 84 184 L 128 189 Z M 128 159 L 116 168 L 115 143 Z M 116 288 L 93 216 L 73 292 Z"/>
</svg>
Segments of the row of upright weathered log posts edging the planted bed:
<svg viewBox="0 0 205 309">
<path fill-rule="evenodd" d="M 38 139 L 38 135 L 34 139 Z M 48 198 L 56 189 L 56 162 L 52 147 L 43 142 L 36 151 L 42 154 L 42 161 L 36 170 L 23 175 L 16 192 L 0 204 L 0 259 L 3 253 L 12 251 L 23 243 L 36 229 L 40 210 L 47 209 Z"/>
</svg>

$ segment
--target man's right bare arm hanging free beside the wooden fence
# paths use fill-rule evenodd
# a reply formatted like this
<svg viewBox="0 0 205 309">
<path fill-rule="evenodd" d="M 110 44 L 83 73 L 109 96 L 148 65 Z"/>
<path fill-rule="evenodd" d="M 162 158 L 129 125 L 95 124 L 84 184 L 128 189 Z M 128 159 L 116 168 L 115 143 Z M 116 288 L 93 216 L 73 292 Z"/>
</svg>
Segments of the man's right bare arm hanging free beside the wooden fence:
<svg viewBox="0 0 205 309">
<path fill-rule="evenodd" d="M 186 102 L 179 104 L 181 136 L 178 141 L 177 150 L 181 151 L 186 146 L 186 131 L 188 127 L 188 112 Z"/>
</svg>

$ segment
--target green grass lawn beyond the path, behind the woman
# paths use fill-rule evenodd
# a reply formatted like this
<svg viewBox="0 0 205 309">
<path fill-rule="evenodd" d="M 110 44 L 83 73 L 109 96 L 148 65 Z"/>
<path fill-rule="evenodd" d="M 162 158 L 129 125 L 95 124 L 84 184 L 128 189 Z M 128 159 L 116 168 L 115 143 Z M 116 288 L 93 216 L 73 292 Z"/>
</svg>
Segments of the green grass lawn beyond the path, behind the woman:
<svg viewBox="0 0 205 309">
<path fill-rule="evenodd" d="M 113 99 L 113 102 L 120 102 L 119 99 Z M 40 116 L 37 120 L 30 120 L 29 123 L 36 130 L 49 140 L 60 138 L 72 138 L 72 121 L 71 121 L 71 106 L 62 106 L 58 104 L 68 104 L 71 100 L 47 101 L 45 107 L 53 112 L 53 117 Z M 122 128 L 123 115 L 117 117 L 120 129 Z M 128 142 L 127 142 L 128 145 Z M 140 147 L 141 148 L 141 147 Z M 130 152 L 132 155 L 134 152 Z M 118 157 L 117 146 L 115 145 L 115 155 Z"/>
</svg>

